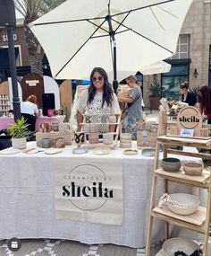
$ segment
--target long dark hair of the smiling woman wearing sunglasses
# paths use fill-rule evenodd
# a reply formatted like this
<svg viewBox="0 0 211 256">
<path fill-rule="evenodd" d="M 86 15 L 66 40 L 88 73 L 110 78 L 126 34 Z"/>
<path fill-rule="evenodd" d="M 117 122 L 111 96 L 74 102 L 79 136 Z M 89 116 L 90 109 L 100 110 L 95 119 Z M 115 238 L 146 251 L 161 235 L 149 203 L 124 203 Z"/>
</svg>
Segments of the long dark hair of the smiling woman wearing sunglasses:
<svg viewBox="0 0 211 256">
<path fill-rule="evenodd" d="M 108 77 L 105 72 L 105 70 L 102 67 L 95 67 L 91 74 L 90 74 L 90 82 L 91 84 L 89 85 L 89 97 L 88 97 L 88 103 L 90 104 L 96 95 L 96 87 L 94 86 L 91 78 L 95 74 L 95 72 L 98 72 L 100 75 L 104 77 L 104 87 L 103 87 L 103 102 L 102 102 L 102 108 L 104 106 L 104 103 L 106 102 L 108 106 L 112 105 L 113 102 L 113 90 L 112 90 L 112 85 L 108 82 Z"/>
</svg>

